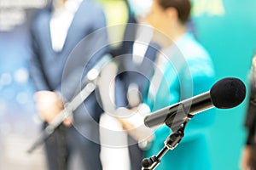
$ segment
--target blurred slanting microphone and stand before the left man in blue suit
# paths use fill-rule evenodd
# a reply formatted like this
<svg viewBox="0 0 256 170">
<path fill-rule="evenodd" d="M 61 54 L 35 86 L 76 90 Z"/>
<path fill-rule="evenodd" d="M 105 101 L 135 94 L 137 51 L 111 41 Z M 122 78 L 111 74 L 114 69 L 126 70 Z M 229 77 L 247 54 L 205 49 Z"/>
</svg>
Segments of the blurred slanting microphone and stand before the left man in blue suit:
<svg viewBox="0 0 256 170">
<path fill-rule="evenodd" d="M 84 88 L 79 91 L 79 94 L 73 97 L 72 101 L 67 102 L 64 105 L 64 109 L 55 116 L 53 121 L 49 122 L 48 126 L 44 128 L 44 131 L 40 134 L 38 139 L 35 140 L 27 150 L 27 153 L 32 153 L 32 151 L 38 148 L 38 146 L 44 144 L 44 142 L 49 139 L 49 136 L 55 132 L 55 129 L 59 127 L 68 116 L 73 115 L 73 111 L 75 111 L 96 89 L 96 78 L 99 76 L 102 67 L 107 65 L 111 59 L 112 57 L 109 54 L 103 56 L 102 59 L 88 72 L 82 82 L 83 85 L 85 84 Z"/>
</svg>

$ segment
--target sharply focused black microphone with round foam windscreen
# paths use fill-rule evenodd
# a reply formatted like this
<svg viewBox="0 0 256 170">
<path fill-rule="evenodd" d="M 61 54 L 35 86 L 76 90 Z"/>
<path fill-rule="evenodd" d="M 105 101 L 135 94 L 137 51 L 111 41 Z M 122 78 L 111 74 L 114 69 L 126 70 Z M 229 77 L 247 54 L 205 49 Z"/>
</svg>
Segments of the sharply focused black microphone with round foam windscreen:
<svg viewBox="0 0 256 170">
<path fill-rule="evenodd" d="M 181 125 L 186 118 L 213 106 L 218 109 L 229 109 L 240 105 L 245 99 L 246 87 L 241 80 L 227 77 L 216 82 L 210 91 L 185 99 L 177 104 L 154 111 L 144 119 L 147 127 L 160 126 L 166 123 L 169 127 Z M 173 123 L 173 124 L 172 124 Z"/>
</svg>

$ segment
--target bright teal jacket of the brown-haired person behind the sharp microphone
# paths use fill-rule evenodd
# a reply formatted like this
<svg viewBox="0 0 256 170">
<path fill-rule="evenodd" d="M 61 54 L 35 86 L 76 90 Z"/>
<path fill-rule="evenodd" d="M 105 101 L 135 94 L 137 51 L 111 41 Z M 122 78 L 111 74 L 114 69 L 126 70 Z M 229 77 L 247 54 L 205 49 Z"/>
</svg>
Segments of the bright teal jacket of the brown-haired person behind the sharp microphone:
<svg viewBox="0 0 256 170">
<path fill-rule="evenodd" d="M 212 60 L 207 51 L 186 33 L 165 53 L 166 62 L 160 86 L 154 98 L 145 99 L 152 111 L 172 105 L 196 94 L 207 92 L 214 82 Z M 183 140 L 174 150 L 169 150 L 162 157 L 159 170 L 209 170 L 211 157 L 209 153 L 208 127 L 212 124 L 214 109 L 197 114 L 185 129 Z M 154 140 L 145 157 L 157 155 L 163 148 L 164 141 L 172 133 L 166 125 L 157 127 Z"/>
</svg>

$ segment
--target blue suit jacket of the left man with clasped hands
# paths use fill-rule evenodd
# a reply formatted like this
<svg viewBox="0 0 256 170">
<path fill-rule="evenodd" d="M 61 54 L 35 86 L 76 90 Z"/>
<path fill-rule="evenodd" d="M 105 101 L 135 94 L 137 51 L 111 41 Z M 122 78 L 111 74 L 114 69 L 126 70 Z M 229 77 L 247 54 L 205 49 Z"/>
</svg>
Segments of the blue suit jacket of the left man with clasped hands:
<svg viewBox="0 0 256 170">
<path fill-rule="evenodd" d="M 32 22 L 31 76 L 37 90 L 58 91 L 69 101 L 79 91 L 84 75 L 106 53 L 103 47 L 107 32 L 96 31 L 106 26 L 105 16 L 96 3 L 83 1 L 74 15 L 62 50 L 55 52 L 49 30 L 51 10 L 50 7 L 41 10 Z M 94 31 L 96 33 L 91 34 Z M 74 112 L 74 123 L 79 132 L 96 142 L 101 113 L 95 93 Z"/>
</svg>

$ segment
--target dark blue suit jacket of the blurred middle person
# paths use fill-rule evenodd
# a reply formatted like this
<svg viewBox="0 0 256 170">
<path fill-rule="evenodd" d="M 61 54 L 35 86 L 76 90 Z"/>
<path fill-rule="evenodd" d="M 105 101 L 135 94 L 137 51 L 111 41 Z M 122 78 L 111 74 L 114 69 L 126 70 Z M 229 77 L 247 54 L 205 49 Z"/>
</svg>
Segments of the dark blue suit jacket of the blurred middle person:
<svg viewBox="0 0 256 170">
<path fill-rule="evenodd" d="M 154 73 L 154 60 L 158 53 L 160 46 L 156 43 L 150 42 L 148 49 L 140 64 L 136 64 L 133 60 L 133 44 L 136 41 L 138 26 L 128 24 L 125 29 L 124 42 L 122 43 L 119 52 L 121 59 L 119 61 L 119 75 L 116 81 L 115 101 L 117 107 L 130 107 L 127 101 L 127 91 L 131 83 L 137 84 L 138 90 L 141 93 L 142 102 L 143 97 L 148 93 L 148 85 Z"/>
</svg>

